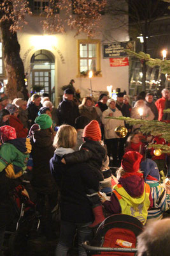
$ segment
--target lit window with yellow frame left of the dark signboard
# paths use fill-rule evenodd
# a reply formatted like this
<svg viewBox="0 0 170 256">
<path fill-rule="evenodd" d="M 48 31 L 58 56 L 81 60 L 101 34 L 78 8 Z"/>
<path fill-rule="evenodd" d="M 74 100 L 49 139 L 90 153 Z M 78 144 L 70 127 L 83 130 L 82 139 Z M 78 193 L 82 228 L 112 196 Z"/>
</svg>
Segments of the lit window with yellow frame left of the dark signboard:
<svg viewBox="0 0 170 256">
<path fill-rule="evenodd" d="M 78 76 L 101 71 L 101 42 L 100 40 L 78 40 Z"/>
</svg>

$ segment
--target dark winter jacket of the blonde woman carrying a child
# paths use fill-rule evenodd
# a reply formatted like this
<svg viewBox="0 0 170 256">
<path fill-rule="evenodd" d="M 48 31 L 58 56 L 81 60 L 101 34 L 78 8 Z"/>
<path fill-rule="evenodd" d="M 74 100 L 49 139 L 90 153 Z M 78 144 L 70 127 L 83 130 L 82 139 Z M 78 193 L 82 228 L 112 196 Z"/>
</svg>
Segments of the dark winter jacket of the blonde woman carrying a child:
<svg viewBox="0 0 170 256">
<path fill-rule="evenodd" d="M 88 223 L 93 220 L 92 209 L 86 189 L 99 189 L 89 166 L 63 164 L 56 154 L 50 160 L 50 170 L 60 188 L 61 220 L 73 223 Z"/>
</svg>

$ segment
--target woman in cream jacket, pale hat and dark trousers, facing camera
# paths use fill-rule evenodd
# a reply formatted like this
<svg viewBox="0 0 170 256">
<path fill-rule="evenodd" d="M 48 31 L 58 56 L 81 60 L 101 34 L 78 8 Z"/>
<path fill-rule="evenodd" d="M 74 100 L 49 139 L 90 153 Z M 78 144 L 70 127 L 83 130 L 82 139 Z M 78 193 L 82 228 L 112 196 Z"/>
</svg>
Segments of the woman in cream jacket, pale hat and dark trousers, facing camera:
<svg viewBox="0 0 170 256">
<path fill-rule="evenodd" d="M 116 102 L 114 99 L 109 99 L 107 101 L 108 109 L 103 111 L 102 122 L 104 125 L 104 137 L 105 143 L 108 150 L 108 156 L 113 157 L 113 161 L 115 164 L 118 164 L 118 136 L 115 133 L 115 128 L 118 125 L 124 125 L 124 121 L 105 118 L 108 116 L 119 117 L 122 116 L 122 112 L 116 108 Z"/>
</svg>

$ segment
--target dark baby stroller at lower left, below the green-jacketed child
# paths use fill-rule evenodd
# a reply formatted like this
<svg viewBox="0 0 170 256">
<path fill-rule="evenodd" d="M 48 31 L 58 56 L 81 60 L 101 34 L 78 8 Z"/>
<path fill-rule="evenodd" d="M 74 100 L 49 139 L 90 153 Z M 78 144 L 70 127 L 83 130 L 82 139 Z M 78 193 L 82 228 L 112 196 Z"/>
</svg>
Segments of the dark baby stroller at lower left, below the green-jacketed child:
<svg viewBox="0 0 170 256">
<path fill-rule="evenodd" d="M 37 236 L 39 229 L 39 216 L 36 212 L 36 205 L 25 193 L 23 185 L 18 185 L 11 191 L 11 200 L 16 211 L 16 219 L 10 227 L 12 231 L 8 241 L 8 252 L 10 255 L 23 256 L 27 251 L 27 243 L 32 236 Z"/>
</svg>

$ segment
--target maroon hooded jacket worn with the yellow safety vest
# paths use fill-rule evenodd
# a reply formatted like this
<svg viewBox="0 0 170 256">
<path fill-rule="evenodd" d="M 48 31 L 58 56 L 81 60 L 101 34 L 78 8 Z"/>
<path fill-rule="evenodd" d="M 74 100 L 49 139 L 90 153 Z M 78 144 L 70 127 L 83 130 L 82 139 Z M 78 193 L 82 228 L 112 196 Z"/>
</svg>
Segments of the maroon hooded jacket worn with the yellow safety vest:
<svg viewBox="0 0 170 256">
<path fill-rule="evenodd" d="M 134 173 L 134 175 L 127 175 L 127 177 L 125 178 L 124 176 L 121 177 L 118 182 L 118 184 L 120 184 L 125 189 L 125 193 L 121 196 L 123 200 L 125 196 L 125 201 L 127 202 L 127 205 L 131 205 L 131 207 L 133 208 L 137 207 L 139 204 L 145 204 L 145 199 L 143 200 L 143 193 L 145 193 L 145 182 L 143 180 L 143 177 L 139 177 L 138 175 L 136 175 L 136 173 Z M 113 188 L 113 191 L 117 190 L 117 186 L 118 185 Z M 126 193 L 128 194 L 128 197 L 126 197 Z M 149 195 L 149 200 L 150 207 L 152 207 L 153 203 L 151 194 Z M 110 201 L 105 201 L 103 205 L 106 210 L 108 212 L 111 212 L 112 214 L 124 214 L 124 211 L 122 211 L 122 205 L 120 205 L 120 200 L 114 192 L 111 195 Z"/>
</svg>

